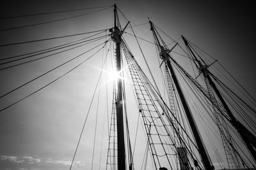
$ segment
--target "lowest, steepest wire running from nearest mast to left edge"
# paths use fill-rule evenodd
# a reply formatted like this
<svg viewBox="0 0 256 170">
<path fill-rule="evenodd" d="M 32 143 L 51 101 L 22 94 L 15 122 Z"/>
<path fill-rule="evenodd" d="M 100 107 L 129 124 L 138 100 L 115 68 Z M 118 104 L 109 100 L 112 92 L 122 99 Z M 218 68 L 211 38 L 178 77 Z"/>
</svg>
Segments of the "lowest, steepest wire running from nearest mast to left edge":
<svg viewBox="0 0 256 170">
<path fill-rule="evenodd" d="M 108 41 L 106 41 L 106 42 L 108 42 Z M 106 42 L 104 42 L 104 43 L 106 44 Z M 100 45 L 102 45 L 102 44 L 104 44 L 104 43 L 101 43 Z M 98 46 L 100 46 L 100 45 L 98 45 Z M 102 48 L 100 48 L 99 50 L 97 50 L 97 52 L 99 52 L 101 49 L 102 49 Z M 93 55 L 95 55 L 97 52 L 93 53 Z M 84 53 L 86 53 L 86 52 L 84 52 Z M 79 56 L 83 55 L 84 53 L 81 53 Z M 68 73 L 70 73 L 71 71 L 73 71 L 74 69 L 76 69 L 77 67 L 81 66 L 84 62 L 86 62 L 87 60 L 89 60 L 90 58 L 92 58 L 93 55 L 91 55 L 91 56 L 88 57 L 87 59 L 83 60 L 83 62 L 81 62 L 81 63 L 78 64 L 77 66 L 73 67 L 72 69 L 70 69 L 69 71 L 67 71 L 65 74 L 62 74 L 60 77 L 56 78 L 55 80 L 51 81 L 50 83 L 47 83 L 47 85 L 44 85 L 44 87 L 41 87 L 40 89 L 38 89 L 38 90 L 36 90 L 35 92 L 29 94 L 28 96 L 23 97 L 22 99 L 19 99 L 19 101 L 16 101 L 15 103 L 12 103 L 12 104 L 6 106 L 5 108 L 1 109 L 0 112 L 6 110 L 7 108 L 10 108 L 10 107 L 13 106 L 14 104 L 19 103 L 20 101 L 22 101 L 22 100 L 28 98 L 29 96 L 32 96 L 32 95 L 35 94 L 36 92 L 38 92 L 38 91 L 44 89 L 45 87 L 51 85 L 52 83 L 54 83 L 55 81 L 59 80 L 59 79 L 62 78 L 63 76 L 67 75 Z"/>
</svg>

